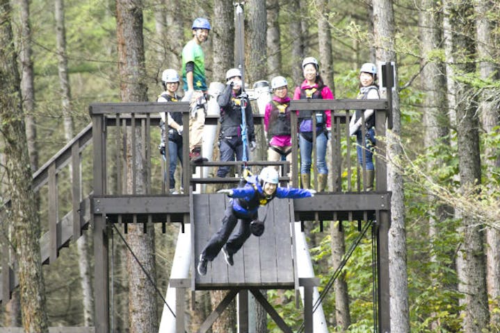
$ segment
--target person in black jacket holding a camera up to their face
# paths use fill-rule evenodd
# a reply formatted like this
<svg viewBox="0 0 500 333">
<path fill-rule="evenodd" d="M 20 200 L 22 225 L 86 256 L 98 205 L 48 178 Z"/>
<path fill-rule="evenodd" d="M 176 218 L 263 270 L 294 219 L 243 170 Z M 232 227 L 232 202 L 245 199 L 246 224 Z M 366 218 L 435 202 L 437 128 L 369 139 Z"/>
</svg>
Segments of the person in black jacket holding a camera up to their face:
<svg viewBox="0 0 500 333">
<path fill-rule="evenodd" d="M 250 106 L 248 96 L 241 89 L 241 71 L 237 68 L 229 69 L 226 73 L 226 80 L 227 85 L 223 93 L 217 96 L 217 103 L 220 106 L 220 161 L 234 161 L 235 157 L 236 161 L 243 161 L 244 155 L 247 157 L 245 161 L 248 161 L 248 147 L 243 145 L 242 110 L 245 108 L 247 144 L 250 143 L 250 150 L 253 151 L 257 144 L 255 143 L 252 106 Z M 217 171 L 217 177 L 225 177 L 228 172 L 229 166 L 221 166 Z"/>
</svg>

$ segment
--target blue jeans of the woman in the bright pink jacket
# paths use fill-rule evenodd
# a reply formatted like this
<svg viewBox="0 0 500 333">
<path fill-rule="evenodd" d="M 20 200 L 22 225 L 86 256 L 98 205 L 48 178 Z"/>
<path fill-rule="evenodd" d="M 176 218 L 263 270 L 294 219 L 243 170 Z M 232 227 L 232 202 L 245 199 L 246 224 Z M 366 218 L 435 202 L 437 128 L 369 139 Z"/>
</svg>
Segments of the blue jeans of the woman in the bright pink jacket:
<svg viewBox="0 0 500 333">
<path fill-rule="evenodd" d="M 327 143 L 328 137 L 324 132 L 316 137 L 316 167 L 318 173 L 328 174 L 325 160 Z M 300 148 L 300 173 L 311 173 L 312 142 L 299 135 L 298 146 Z"/>
</svg>

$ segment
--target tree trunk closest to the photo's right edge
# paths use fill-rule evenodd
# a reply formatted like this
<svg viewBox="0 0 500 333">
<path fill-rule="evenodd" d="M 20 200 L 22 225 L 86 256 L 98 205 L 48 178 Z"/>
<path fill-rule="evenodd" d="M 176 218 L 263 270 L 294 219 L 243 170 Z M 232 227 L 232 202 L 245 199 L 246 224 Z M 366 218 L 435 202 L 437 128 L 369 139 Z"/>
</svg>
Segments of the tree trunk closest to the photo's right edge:
<svg viewBox="0 0 500 333">
<path fill-rule="evenodd" d="M 474 11 L 476 12 L 476 47 L 479 60 L 479 76 L 483 80 L 494 79 L 494 65 L 490 58 L 494 54 L 492 40 L 492 22 L 488 19 L 490 1 L 474 1 Z M 494 134 L 494 126 L 499 125 L 499 112 L 494 105 L 493 92 L 485 89 L 479 95 L 479 110 L 483 129 L 488 134 Z M 486 164 L 486 178 L 494 177 L 494 169 L 500 167 L 498 159 L 498 148 L 485 148 L 484 161 Z M 491 189 L 494 190 L 494 189 Z M 493 311 L 500 306 L 500 232 L 493 228 L 486 229 L 486 284 L 490 298 L 490 323 L 491 327 L 500 327 L 500 314 Z"/>
</svg>

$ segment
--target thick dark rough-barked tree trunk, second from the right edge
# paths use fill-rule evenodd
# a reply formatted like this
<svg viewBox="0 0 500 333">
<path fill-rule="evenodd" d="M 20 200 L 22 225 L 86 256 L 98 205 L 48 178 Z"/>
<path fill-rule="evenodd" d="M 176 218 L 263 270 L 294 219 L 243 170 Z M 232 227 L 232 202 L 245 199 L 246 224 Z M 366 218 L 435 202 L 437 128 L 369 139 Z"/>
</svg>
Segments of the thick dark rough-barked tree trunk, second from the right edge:
<svg viewBox="0 0 500 333">
<path fill-rule="evenodd" d="M 454 32 L 453 50 L 455 58 L 455 74 L 472 74 L 475 65 L 474 57 L 474 22 L 471 19 L 473 8 L 469 1 L 453 1 L 450 3 L 450 22 Z M 459 64 L 459 65 L 458 65 Z M 456 116 L 458 138 L 458 160 L 460 184 L 462 192 L 469 192 L 471 187 L 481 182 L 481 157 L 479 155 L 478 114 L 472 88 L 465 82 L 455 82 Z M 485 260 L 483 249 L 483 232 L 481 221 L 476 221 L 467 212 L 462 214 L 462 232 L 464 243 L 459 256 L 463 256 L 465 266 L 461 281 L 465 292 L 465 332 L 481 332 L 487 330 L 490 316 L 488 313 Z"/>
</svg>

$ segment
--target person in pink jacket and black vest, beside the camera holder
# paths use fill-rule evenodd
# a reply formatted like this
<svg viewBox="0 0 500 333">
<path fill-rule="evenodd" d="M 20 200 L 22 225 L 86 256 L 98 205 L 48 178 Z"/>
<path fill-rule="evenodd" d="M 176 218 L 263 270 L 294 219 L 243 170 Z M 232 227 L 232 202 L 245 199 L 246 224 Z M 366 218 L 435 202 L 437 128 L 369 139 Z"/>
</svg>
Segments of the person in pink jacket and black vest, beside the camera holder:
<svg viewBox="0 0 500 333">
<path fill-rule="evenodd" d="M 276 76 L 271 80 L 271 89 L 273 99 L 267 103 L 264 111 L 264 130 L 269 144 L 268 161 L 286 159 L 291 163 L 290 97 L 287 79 Z M 291 171 L 288 176 L 292 179 Z M 289 184 L 292 186 L 291 182 Z"/>
</svg>

